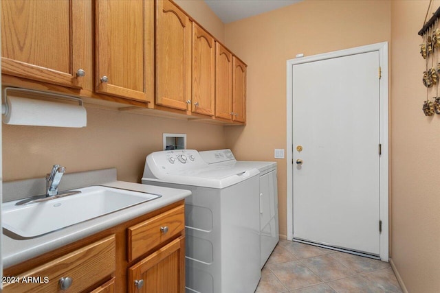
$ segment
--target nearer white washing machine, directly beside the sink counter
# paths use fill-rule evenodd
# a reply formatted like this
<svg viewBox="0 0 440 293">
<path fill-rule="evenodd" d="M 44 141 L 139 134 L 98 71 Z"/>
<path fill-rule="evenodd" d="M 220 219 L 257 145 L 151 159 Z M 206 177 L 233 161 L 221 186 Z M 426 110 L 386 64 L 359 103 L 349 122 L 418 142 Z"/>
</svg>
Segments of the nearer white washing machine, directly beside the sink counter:
<svg viewBox="0 0 440 293">
<path fill-rule="evenodd" d="M 146 156 L 142 183 L 188 189 L 186 292 L 252 293 L 261 278 L 259 171 L 208 165 L 196 150 Z"/>
</svg>

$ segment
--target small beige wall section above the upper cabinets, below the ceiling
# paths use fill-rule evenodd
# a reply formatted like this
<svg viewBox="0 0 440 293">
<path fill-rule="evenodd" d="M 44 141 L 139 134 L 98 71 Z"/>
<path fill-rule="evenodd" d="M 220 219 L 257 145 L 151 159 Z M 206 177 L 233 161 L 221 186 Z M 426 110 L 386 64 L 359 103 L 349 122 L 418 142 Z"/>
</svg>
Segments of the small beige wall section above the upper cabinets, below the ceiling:
<svg viewBox="0 0 440 293">
<path fill-rule="evenodd" d="M 203 0 L 174 0 L 183 10 L 195 19 L 205 30 L 208 30 L 219 40 L 225 43 L 225 24 L 219 19 Z"/>
</svg>

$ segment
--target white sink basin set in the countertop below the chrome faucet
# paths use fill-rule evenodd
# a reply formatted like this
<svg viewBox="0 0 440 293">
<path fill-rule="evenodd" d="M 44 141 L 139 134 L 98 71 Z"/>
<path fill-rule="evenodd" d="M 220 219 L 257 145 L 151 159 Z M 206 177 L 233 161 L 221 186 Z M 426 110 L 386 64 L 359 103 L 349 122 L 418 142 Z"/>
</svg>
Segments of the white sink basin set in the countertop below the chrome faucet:
<svg viewBox="0 0 440 293">
<path fill-rule="evenodd" d="M 21 237 L 36 237 L 160 197 L 104 186 L 75 190 L 81 193 L 23 205 L 15 205 L 20 200 L 3 203 L 3 228 Z"/>
</svg>

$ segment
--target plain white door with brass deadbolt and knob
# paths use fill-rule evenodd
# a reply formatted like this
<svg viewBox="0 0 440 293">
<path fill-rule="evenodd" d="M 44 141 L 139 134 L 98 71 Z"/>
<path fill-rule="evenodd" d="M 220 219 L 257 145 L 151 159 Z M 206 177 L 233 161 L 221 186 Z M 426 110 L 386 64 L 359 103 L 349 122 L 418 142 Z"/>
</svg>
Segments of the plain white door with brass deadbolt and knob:
<svg viewBox="0 0 440 293">
<path fill-rule="evenodd" d="M 293 66 L 296 239 L 380 255 L 378 69 L 378 51 Z"/>
</svg>

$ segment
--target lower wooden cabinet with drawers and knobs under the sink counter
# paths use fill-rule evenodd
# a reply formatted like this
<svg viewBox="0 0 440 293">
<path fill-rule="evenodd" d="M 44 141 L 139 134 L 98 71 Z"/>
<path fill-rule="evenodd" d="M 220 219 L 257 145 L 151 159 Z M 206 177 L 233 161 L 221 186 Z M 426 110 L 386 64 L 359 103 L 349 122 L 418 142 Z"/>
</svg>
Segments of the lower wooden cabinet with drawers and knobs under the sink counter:
<svg viewBox="0 0 440 293">
<path fill-rule="evenodd" d="M 179 200 L 5 268 L 19 281 L 3 283 L 3 292 L 183 293 L 184 209 Z"/>
</svg>

